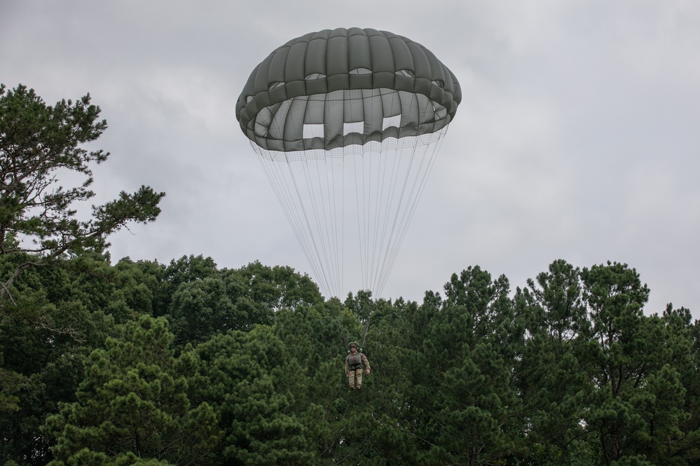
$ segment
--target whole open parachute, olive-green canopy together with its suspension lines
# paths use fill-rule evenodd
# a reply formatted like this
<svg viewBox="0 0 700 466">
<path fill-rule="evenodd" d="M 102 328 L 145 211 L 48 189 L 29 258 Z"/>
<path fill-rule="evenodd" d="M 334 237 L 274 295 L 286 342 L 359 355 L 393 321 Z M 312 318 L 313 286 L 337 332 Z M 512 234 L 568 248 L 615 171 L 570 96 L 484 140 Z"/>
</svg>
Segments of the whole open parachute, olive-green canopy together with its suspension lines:
<svg viewBox="0 0 700 466">
<path fill-rule="evenodd" d="M 375 29 L 306 34 L 254 69 L 236 118 L 326 296 L 346 270 L 382 292 L 461 98 L 430 50 Z"/>
</svg>

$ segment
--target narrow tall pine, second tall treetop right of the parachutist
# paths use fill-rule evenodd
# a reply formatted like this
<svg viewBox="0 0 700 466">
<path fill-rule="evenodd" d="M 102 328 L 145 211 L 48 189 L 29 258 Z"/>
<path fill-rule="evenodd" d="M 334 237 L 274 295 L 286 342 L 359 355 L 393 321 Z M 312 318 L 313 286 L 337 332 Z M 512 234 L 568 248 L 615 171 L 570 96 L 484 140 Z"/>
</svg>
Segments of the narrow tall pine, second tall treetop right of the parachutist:
<svg viewBox="0 0 700 466">
<path fill-rule="evenodd" d="M 585 376 L 575 352 L 579 329 L 588 323 L 586 307 L 578 268 L 554 261 L 536 280 L 515 296 L 528 331 L 516 378 L 528 406 L 528 441 L 540 464 L 568 465 L 581 460 L 586 433 L 580 423 Z"/>
</svg>

